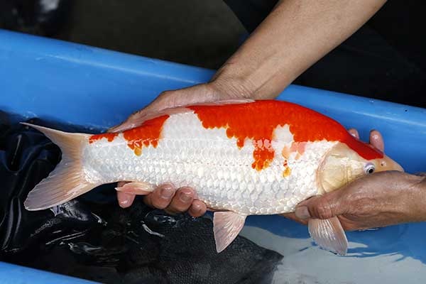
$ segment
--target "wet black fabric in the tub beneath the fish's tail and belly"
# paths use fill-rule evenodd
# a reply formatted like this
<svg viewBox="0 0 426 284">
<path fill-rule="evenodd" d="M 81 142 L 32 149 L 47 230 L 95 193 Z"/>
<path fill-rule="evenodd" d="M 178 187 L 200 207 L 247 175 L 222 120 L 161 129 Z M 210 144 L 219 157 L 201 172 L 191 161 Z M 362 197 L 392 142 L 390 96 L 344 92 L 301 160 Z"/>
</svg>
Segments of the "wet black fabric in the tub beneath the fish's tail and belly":
<svg viewBox="0 0 426 284">
<path fill-rule="evenodd" d="M 26 195 L 55 168 L 60 150 L 38 131 L 2 120 L 0 261 L 102 283 L 271 283 L 279 253 L 241 236 L 216 253 L 209 218 L 169 216 L 141 200 L 121 209 L 114 185 L 26 211 Z"/>
</svg>

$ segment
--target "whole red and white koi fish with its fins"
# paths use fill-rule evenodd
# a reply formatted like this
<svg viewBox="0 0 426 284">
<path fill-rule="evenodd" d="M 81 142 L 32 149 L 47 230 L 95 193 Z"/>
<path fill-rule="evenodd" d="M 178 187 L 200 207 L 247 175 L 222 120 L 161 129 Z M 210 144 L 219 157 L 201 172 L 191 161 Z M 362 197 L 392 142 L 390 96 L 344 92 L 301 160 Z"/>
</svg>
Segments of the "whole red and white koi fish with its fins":
<svg viewBox="0 0 426 284">
<path fill-rule="evenodd" d="M 120 133 L 65 133 L 32 126 L 60 146 L 62 160 L 28 194 L 40 210 L 99 185 L 152 192 L 165 182 L 197 190 L 214 210 L 217 252 L 253 214 L 283 214 L 314 195 L 383 170 L 403 171 L 337 121 L 290 102 L 235 100 L 166 109 Z M 311 219 L 312 239 L 344 255 L 348 242 L 337 217 Z"/>
</svg>

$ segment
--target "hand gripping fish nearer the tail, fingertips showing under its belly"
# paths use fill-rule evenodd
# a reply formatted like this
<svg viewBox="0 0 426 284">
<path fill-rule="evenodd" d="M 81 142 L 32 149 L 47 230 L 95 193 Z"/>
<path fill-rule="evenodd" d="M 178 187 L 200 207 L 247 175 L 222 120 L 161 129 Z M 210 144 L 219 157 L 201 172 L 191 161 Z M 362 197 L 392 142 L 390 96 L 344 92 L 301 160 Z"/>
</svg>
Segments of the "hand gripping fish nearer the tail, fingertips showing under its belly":
<svg viewBox="0 0 426 284">
<path fill-rule="evenodd" d="M 151 114 L 171 107 L 180 107 L 187 104 L 199 104 L 226 99 L 245 99 L 251 96 L 250 92 L 233 87 L 224 80 L 214 80 L 207 84 L 198 84 L 185 89 L 167 91 L 161 93 L 148 107 L 129 116 L 123 124 L 115 126 L 109 132 L 121 132 L 136 127 Z M 241 94 L 245 94 L 242 96 Z M 126 182 L 119 182 L 122 187 Z M 117 191 L 119 205 L 123 208 L 130 207 L 136 195 L 133 193 Z M 164 209 L 170 214 L 188 211 L 193 217 L 202 216 L 206 210 L 206 204 L 197 200 L 195 190 L 190 187 L 176 189 L 171 184 L 160 185 L 152 193 L 144 197 L 144 202 L 151 207 Z"/>
</svg>

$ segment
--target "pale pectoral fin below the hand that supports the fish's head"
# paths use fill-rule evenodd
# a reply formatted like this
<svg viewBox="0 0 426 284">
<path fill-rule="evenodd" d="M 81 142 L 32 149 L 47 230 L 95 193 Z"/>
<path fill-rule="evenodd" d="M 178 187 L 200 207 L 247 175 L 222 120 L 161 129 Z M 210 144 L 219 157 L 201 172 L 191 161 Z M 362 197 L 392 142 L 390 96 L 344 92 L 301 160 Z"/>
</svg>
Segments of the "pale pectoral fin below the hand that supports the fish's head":
<svg viewBox="0 0 426 284">
<path fill-rule="evenodd" d="M 348 250 L 348 240 L 337 217 L 330 219 L 310 219 L 309 234 L 322 249 L 344 256 Z"/>
</svg>

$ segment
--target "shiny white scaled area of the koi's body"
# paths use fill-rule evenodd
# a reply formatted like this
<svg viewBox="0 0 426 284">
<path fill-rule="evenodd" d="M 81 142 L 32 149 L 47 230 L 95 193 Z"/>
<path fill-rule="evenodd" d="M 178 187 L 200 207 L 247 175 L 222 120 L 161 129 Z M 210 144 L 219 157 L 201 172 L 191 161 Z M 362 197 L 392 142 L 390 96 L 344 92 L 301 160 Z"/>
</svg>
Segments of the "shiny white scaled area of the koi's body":
<svg viewBox="0 0 426 284">
<path fill-rule="evenodd" d="M 97 180 L 89 182 L 126 180 L 153 185 L 173 182 L 178 187 L 196 188 L 198 198 L 212 209 L 232 209 L 241 214 L 285 213 L 317 194 L 312 173 L 324 153 L 335 144 L 308 143 L 302 158 L 296 160 L 292 155 L 288 160 L 292 173 L 285 178 L 284 158 L 279 153 L 283 146 L 289 145 L 280 141 L 274 141 L 278 157 L 268 168 L 258 171 L 251 166 L 251 139 L 246 139 L 240 149 L 235 138 L 226 136 L 226 129 L 205 129 L 194 112 L 170 116 L 163 125 L 162 135 L 156 148 L 143 148 L 141 155 L 133 153 L 122 134 L 111 142 L 101 139 L 88 143 L 83 153 L 84 172 L 89 173 L 87 180 L 97 176 Z M 286 195 L 288 191 L 290 194 Z"/>
</svg>

